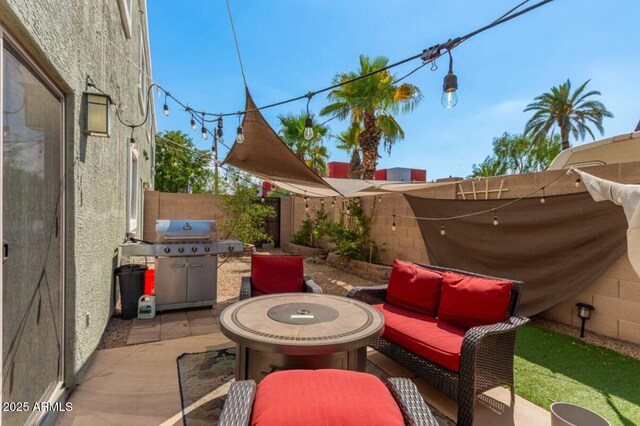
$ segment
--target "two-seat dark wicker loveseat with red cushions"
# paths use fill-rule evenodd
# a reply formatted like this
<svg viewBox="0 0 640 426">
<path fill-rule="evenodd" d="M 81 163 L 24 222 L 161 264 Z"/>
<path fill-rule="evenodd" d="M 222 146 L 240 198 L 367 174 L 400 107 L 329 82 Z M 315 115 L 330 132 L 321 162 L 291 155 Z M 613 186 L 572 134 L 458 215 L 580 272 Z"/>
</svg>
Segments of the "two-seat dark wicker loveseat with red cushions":
<svg viewBox="0 0 640 426">
<path fill-rule="evenodd" d="M 389 283 L 348 297 L 378 309 L 382 337 L 370 345 L 458 402 L 458 425 L 473 424 L 476 395 L 509 386 L 514 400 L 516 316 L 523 283 L 396 260 Z"/>
</svg>

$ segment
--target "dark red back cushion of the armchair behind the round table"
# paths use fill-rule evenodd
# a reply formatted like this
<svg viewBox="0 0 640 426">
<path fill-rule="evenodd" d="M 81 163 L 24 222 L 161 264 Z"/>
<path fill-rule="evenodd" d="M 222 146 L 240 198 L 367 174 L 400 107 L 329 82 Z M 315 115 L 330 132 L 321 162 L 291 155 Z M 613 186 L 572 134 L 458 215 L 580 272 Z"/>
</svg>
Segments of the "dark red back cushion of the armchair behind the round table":
<svg viewBox="0 0 640 426">
<path fill-rule="evenodd" d="M 251 286 L 262 294 L 297 293 L 304 285 L 302 256 L 251 256 Z"/>
</svg>

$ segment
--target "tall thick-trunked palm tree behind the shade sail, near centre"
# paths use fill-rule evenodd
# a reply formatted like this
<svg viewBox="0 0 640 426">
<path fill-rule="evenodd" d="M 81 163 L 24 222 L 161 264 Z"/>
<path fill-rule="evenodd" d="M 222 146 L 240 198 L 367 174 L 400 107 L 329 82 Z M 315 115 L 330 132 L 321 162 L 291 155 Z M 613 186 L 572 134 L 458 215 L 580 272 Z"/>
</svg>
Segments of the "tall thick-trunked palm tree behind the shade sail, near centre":
<svg viewBox="0 0 640 426">
<path fill-rule="evenodd" d="M 357 71 L 340 73 L 334 83 L 343 83 L 372 71 L 384 68 L 389 60 L 384 56 L 370 59 L 360 55 L 360 68 Z M 350 118 L 362 125 L 358 135 L 362 153 L 362 177 L 373 179 L 378 163 L 378 147 L 384 141 L 385 150 L 390 153 L 393 144 L 404 138 L 404 131 L 394 115 L 411 111 L 422 95 L 416 86 L 403 83 L 395 84 L 394 75 L 381 71 L 370 77 L 338 87 L 329 93 L 327 105 L 321 115 L 333 115 L 341 120 Z"/>
</svg>

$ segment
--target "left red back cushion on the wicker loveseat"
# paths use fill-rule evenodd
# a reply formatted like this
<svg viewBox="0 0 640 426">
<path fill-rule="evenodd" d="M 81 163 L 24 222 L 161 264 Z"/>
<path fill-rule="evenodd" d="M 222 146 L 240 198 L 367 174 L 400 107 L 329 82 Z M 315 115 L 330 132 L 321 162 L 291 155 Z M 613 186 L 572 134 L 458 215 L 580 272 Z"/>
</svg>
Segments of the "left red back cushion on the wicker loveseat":
<svg viewBox="0 0 640 426">
<path fill-rule="evenodd" d="M 415 312 L 435 316 L 442 274 L 396 259 L 389 277 L 387 301 Z"/>
</svg>

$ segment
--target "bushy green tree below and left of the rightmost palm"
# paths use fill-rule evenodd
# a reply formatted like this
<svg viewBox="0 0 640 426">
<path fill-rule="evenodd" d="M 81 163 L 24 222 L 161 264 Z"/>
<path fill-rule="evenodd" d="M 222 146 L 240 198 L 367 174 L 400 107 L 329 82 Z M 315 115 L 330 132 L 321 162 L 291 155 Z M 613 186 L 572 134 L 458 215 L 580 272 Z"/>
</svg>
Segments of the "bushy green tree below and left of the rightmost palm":
<svg viewBox="0 0 640 426">
<path fill-rule="evenodd" d="M 504 133 L 493 140 L 493 155 L 473 165 L 472 177 L 546 170 L 561 151 L 559 135 L 534 142 L 524 135 Z"/>
</svg>

